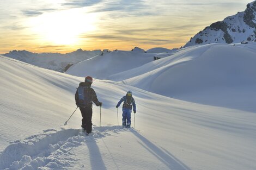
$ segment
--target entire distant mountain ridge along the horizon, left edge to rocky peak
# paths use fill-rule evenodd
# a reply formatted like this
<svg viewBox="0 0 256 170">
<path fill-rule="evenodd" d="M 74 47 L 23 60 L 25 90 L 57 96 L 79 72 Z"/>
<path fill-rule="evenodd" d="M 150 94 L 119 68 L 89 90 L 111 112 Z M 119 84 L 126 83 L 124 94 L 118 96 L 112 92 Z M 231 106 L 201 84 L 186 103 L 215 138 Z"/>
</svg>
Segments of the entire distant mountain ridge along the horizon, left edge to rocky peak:
<svg viewBox="0 0 256 170">
<path fill-rule="evenodd" d="M 131 55 L 139 55 L 142 54 L 148 55 L 148 53 L 154 53 L 155 57 L 163 58 L 165 56 L 171 55 L 175 53 L 177 49 L 167 49 L 167 48 L 151 48 L 148 51 L 145 51 L 142 48 L 135 47 L 131 51 L 121 51 L 121 50 L 114 50 L 115 52 L 126 52 L 130 53 Z M 66 72 L 72 65 L 76 65 L 81 61 L 88 60 L 94 58 L 95 56 L 102 57 L 108 53 L 112 53 L 108 49 L 95 49 L 93 51 L 83 51 L 81 48 L 77 49 L 74 52 L 70 53 L 33 53 L 26 50 L 17 51 L 13 50 L 9 53 L 2 54 L 4 56 L 8 56 L 9 58 L 13 58 L 19 61 L 27 62 L 28 64 L 32 64 L 35 66 L 39 66 L 42 68 L 47 68 L 49 70 L 54 70 L 58 72 Z M 157 54 L 159 53 L 159 54 Z M 154 60 L 152 56 L 152 60 Z"/>
</svg>

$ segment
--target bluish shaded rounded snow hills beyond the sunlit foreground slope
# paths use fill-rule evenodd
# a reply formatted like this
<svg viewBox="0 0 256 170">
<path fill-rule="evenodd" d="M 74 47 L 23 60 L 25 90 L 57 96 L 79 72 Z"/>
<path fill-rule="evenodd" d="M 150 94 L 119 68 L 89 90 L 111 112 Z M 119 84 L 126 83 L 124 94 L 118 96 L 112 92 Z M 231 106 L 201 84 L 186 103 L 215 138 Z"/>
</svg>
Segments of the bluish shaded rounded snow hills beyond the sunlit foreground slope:
<svg viewBox="0 0 256 170">
<path fill-rule="evenodd" d="M 156 61 L 151 54 L 163 53 L 115 51 L 80 62 L 66 73 L 120 81 L 190 102 L 256 111 L 251 107 L 256 97 L 255 49 L 255 42 L 191 46 L 164 53 L 168 56 Z"/>
</svg>

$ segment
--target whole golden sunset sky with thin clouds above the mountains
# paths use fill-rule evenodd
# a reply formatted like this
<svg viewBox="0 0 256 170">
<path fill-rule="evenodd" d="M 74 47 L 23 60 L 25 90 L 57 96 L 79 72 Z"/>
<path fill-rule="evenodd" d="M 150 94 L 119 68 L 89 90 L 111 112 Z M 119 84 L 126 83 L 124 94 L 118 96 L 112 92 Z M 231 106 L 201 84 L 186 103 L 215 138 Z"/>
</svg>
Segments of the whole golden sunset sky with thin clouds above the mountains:
<svg viewBox="0 0 256 170">
<path fill-rule="evenodd" d="M 179 48 L 253 0 L 0 0 L 0 54 Z"/>
</svg>

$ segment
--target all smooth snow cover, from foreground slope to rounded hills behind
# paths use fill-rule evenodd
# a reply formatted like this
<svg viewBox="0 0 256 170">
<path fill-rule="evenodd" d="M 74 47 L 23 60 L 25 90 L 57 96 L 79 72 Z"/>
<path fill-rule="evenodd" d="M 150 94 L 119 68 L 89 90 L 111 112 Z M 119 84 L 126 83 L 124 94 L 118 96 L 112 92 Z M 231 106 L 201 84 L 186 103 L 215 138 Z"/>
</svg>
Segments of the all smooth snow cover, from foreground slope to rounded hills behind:
<svg viewBox="0 0 256 170">
<path fill-rule="evenodd" d="M 66 73 L 0 56 L 0 169 L 256 169 L 255 49 L 192 46 L 156 61 L 114 51 Z M 79 110 L 63 125 L 84 75 L 103 102 L 91 136 Z M 127 90 L 137 112 L 123 129 L 115 105 Z"/>
</svg>

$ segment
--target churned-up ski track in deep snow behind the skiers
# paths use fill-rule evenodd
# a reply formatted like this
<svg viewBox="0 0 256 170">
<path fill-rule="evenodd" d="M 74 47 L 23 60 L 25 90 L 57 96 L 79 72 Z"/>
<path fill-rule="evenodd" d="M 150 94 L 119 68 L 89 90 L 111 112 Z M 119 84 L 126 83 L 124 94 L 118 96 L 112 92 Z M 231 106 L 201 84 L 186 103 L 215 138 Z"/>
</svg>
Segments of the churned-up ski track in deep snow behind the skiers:
<svg viewBox="0 0 256 170">
<path fill-rule="evenodd" d="M 56 133 L 33 135 L 23 141 L 11 142 L 0 153 L 0 169 L 5 170 L 45 170 L 67 169 L 77 159 L 70 152 L 72 148 L 86 144 L 90 140 L 109 136 L 109 132 L 128 131 L 120 126 L 94 127 L 92 135 L 86 136 L 82 129 L 63 129 Z M 54 131 L 44 130 L 44 132 Z"/>
</svg>

